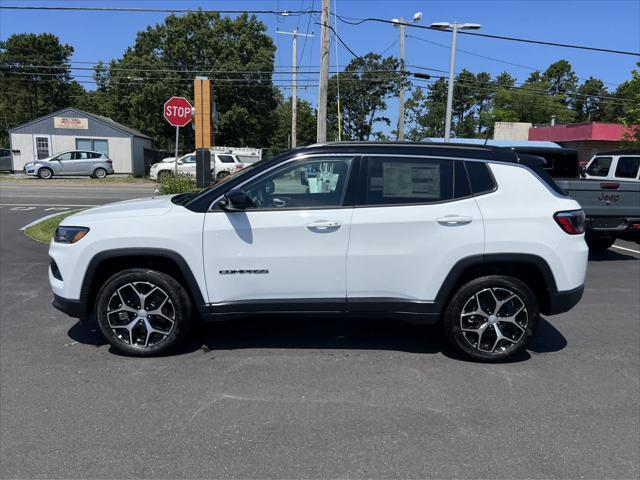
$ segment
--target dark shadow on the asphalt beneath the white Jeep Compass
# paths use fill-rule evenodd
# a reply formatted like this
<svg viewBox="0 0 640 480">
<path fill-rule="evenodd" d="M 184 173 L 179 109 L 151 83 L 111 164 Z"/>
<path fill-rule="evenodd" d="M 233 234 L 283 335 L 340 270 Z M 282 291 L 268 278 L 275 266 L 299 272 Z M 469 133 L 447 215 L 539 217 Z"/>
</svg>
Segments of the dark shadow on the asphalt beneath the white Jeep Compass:
<svg viewBox="0 0 640 480">
<path fill-rule="evenodd" d="M 107 342 L 100 332 L 88 330 L 79 322 L 68 335 L 78 343 L 100 347 Z M 540 319 L 538 334 L 526 350 L 501 363 L 517 363 L 531 358 L 529 352 L 549 353 L 562 350 L 567 340 L 553 325 Z M 198 323 L 189 340 L 168 356 L 242 349 L 307 350 L 386 350 L 436 354 L 465 361 L 473 360 L 454 350 L 439 325 L 416 325 L 397 319 L 313 316 L 241 317 L 215 323 Z M 120 355 L 112 347 L 109 351 Z"/>
</svg>

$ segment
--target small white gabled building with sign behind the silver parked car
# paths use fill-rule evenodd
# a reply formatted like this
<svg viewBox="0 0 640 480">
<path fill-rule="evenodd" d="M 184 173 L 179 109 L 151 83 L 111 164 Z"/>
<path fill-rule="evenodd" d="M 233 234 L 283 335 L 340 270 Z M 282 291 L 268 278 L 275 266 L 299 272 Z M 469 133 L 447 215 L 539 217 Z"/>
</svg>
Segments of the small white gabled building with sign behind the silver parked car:
<svg viewBox="0 0 640 480">
<path fill-rule="evenodd" d="M 115 173 L 145 175 L 152 158 L 151 138 L 110 118 L 69 107 L 9 130 L 13 170 L 67 150 L 93 150 L 113 160 Z"/>
</svg>

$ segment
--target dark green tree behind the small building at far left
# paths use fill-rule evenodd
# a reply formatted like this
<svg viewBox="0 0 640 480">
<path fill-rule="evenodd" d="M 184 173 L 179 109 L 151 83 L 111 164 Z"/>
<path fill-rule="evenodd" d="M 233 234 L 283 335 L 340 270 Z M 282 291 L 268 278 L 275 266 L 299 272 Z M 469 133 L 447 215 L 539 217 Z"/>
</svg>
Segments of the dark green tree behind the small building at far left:
<svg viewBox="0 0 640 480">
<path fill-rule="evenodd" d="M 68 107 L 84 90 L 70 82 L 73 47 L 50 33 L 20 33 L 0 41 L 0 142 L 7 130 Z"/>
</svg>

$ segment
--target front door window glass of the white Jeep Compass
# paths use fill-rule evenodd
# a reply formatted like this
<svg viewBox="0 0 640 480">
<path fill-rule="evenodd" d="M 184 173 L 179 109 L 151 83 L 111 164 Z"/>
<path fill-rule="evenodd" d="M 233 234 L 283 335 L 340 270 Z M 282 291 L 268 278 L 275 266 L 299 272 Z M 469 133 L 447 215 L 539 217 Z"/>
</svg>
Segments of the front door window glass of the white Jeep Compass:
<svg viewBox="0 0 640 480">
<path fill-rule="evenodd" d="M 297 161 L 243 188 L 253 209 L 333 208 L 342 205 L 352 160 Z"/>
</svg>

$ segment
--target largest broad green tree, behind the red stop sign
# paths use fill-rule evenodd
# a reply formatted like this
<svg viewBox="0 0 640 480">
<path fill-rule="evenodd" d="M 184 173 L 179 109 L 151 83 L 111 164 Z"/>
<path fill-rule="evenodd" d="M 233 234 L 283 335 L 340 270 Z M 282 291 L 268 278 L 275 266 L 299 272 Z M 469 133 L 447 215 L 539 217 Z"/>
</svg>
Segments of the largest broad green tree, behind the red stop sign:
<svg viewBox="0 0 640 480">
<path fill-rule="evenodd" d="M 216 143 L 265 147 L 276 128 L 277 106 L 271 79 L 275 47 L 266 30 L 246 14 L 169 15 L 139 32 L 108 74 L 96 70 L 98 86 L 107 93 L 101 108 L 167 148 L 173 128 L 162 117 L 162 105 L 173 95 L 192 99 L 194 76 L 205 75 L 214 86 Z M 193 134 L 182 130 L 185 149 L 193 148 Z"/>
</svg>

